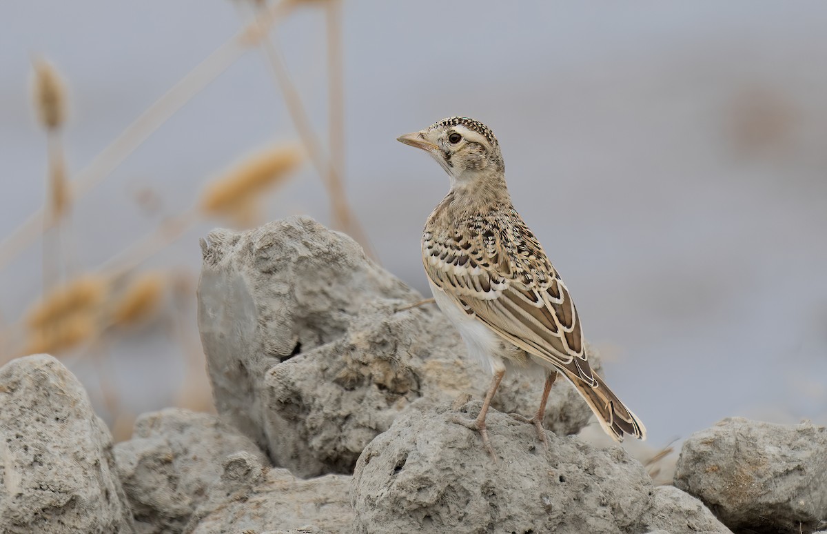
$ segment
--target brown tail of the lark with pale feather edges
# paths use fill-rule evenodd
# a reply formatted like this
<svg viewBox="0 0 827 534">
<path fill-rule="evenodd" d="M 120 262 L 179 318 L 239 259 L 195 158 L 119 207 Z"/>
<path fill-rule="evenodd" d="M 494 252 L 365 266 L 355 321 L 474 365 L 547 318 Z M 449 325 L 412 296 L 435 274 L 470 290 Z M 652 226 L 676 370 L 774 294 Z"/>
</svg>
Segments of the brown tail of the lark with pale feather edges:
<svg viewBox="0 0 827 534">
<path fill-rule="evenodd" d="M 571 371 L 567 369 L 562 369 L 562 371 L 580 392 L 581 397 L 586 399 L 586 403 L 591 411 L 595 412 L 597 422 L 606 434 L 612 436 L 615 441 L 623 441 L 626 434 L 640 440 L 646 439 L 646 427 L 640 422 L 638 416 L 635 416 L 629 408 L 624 406 L 623 402 L 620 402 L 620 399 L 606 386 L 606 382 L 603 382 L 603 379 L 596 373 L 592 373 L 596 385 L 591 387 Z"/>
</svg>

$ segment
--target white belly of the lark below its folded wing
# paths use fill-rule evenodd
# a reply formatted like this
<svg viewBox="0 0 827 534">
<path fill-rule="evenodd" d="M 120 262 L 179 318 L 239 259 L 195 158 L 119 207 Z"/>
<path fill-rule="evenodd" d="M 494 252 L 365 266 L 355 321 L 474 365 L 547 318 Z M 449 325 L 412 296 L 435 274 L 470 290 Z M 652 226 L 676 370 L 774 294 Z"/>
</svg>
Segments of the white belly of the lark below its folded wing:
<svg viewBox="0 0 827 534">
<path fill-rule="evenodd" d="M 451 321 L 454 328 L 459 330 L 462 339 L 466 342 L 471 358 L 479 361 L 482 368 L 489 373 L 504 370 L 505 364 L 500 354 L 503 353 L 504 343 L 507 342 L 485 326 L 482 321 L 474 319 L 461 310 L 444 291 L 434 286 L 433 282 L 428 281 L 428 283 L 431 285 L 431 292 L 439 309 Z"/>
</svg>

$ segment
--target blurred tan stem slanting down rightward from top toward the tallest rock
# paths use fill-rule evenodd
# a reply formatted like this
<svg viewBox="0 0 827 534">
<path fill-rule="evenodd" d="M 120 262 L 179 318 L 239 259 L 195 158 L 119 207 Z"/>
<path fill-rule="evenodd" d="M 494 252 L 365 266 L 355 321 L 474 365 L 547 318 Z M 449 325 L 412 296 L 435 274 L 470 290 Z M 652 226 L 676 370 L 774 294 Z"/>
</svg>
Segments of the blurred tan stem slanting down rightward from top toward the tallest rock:
<svg viewBox="0 0 827 534">
<path fill-rule="evenodd" d="M 261 10 L 256 10 L 256 22 L 261 21 L 260 13 Z M 313 166 L 316 167 L 319 176 L 322 176 L 325 188 L 327 189 L 327 195 L 331 203 L 333 226 L 349 233 L 352 238 L 361 244 L 362 248 L 365 248 L 368 256 L 375 259 L 376 255 L 370 247 L 366 233 L 361 229 L 361 225 L 352 214 L 350 204 L 347 203 L 344 184 L 339 175 L 340 170 L 333 166 L 332 161 L 327 160 L 323 147 L 315 132 L 313 132 L 313 127 L 310 125 L 310 119 L 304 109 L 299 91 L 296 90 L 293 82 L 290 81 L 287 69 L 281 60 L 280 51 L 273 41 L 270 40 L 270 36 L 265 36 L 264 29 L 261 29 L 261 34 L 264 36 L 261 41 L 261 50 L 270 63 L 271 73 L 275 79 L 275 83 L 279 86 L 296 132 L 299 132 L 299 137 L 307 148 L 308 156 L 310 156 L 310 160 L 313 161 Z"/>
</svg>

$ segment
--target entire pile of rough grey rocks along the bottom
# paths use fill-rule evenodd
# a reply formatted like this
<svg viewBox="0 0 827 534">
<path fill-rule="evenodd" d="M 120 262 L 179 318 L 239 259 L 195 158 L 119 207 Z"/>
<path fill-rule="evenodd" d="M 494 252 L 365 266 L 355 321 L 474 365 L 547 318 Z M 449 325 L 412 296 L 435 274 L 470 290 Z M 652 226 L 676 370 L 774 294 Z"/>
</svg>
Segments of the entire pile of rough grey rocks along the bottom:
<svg viewBox="0 0 827 534">
<path fill-rule="evenodd" d="M 674 486 L 576 434 L 558 381 L 550 447 L 516 375 L 489 416 L 493 464 L 452 416 L 479 410 L 433 306 L 311 219 L 202 243 L 199 328 L 219 416 L 167 409 L 112 447 L 55 358 L 0 368 L 0 532 L 814 532 L 827 523 L 827 430 L 730 419 L 692 435 Z M 474 399 L 469 401 L 468 394 Z M 730 530 L 732 529 L 732 530 Z"/>
</svg>

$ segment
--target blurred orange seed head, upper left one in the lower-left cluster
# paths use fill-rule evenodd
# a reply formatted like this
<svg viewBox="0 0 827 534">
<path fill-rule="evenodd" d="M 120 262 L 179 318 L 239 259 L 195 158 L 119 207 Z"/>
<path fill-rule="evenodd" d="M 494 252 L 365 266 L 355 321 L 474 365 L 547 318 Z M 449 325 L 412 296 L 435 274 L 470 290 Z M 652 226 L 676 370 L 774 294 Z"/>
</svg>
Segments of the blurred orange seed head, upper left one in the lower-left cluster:
<svg viewBox="0 0 827 534">
<path fill-rule="evenodd" d="M 55 288 L 26 313 L 26 324 L 43 328 L 68 315 L 93 311 L 106 300 L 109 282 L 101 275 L 84 275 Z"/>
</svg>

